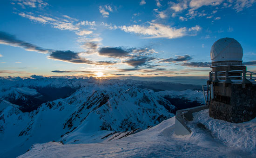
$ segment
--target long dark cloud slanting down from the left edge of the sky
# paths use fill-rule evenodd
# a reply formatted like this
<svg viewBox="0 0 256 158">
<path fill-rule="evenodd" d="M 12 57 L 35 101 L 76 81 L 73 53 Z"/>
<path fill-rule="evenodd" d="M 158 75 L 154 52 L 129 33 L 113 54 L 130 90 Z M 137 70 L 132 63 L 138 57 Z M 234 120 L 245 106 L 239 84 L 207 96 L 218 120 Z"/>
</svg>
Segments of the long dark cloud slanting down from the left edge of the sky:
<svg viewBox="0 0 256 158">
<path fill-rule="evenodd" d="M 15 38 L 15 36 L 10 35 L 6 32 L 0 32 L 0 44 L 7 44 L 14 47 L 21 47 L 26 49 L 27 51 L 37 51 L 40 53 L 49 53 L 49 49 L 44 49 L 34 44 L 30 44 Z"/>
</svg>

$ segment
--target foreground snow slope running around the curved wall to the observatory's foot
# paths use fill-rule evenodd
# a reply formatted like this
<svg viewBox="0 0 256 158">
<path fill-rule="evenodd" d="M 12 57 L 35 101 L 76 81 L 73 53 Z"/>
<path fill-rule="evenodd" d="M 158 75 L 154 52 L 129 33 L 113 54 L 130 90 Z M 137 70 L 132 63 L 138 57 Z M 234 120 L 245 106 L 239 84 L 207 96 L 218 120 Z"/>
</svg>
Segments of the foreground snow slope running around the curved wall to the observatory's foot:
<svg viewBox="0 0 256 158">
<path fill-rule="evenodd" d="M 212 136 L 206 129 L 201 129 L 198 126 L 192 129 L 192 133 L 188 136 L 177 136 L 174 134 L 175 117 L 162 121 L 160 124 L 145 129 L 139 133 L 135 133 L 126 138 L 108 141 L 101 143 L 90 144 L 70 144 L 62 145 L 60 142 L 48 142 L 44 144 L 34 144 L 28 152 L 20 155 L 18 158 L 85 158 L 85 157 L 185 157 L 185 158 L 255 158 L 255 144 L 250 144 L 253 147 L 245 149 L 246 144 L 235 145 L 234 138 L 240 139 L 249 136 L 245 142 L 252 138 L 255 141 L 255 120 L 243 124 L 234 124 L 230 127 L 237 128 L 238 131 L 243 131 L 243 127 L 250 126 L 249 133 L 237 133 L 235 136 L 226 135 L 226 129 L 222 126 L 229 125 L 228 122 L 222 122 L 219 126 L 219 120 L 209 118 L 207 110 L 201 111 L 196 116 L 201 115 L 201 119 L 213 128 L 219 128 L 215 132 L 216 135 L 221 135 L 222 138 Z M 197 119 L 191 122 L 191 127 L 198 123 Z M 200 120 L 201 120 L 200 119 Z M 208 120 L 208 121 L 207 121 Z M 209 121 L 210 120 L 210 121 Z M 211 122 L 211 123 L 209 123 Z M 253 125 L 251 125 L 253 124 Z M 206 125 L 206 126 L 207 126 Z M 248 128 L 249 128 L 248 126 Z M 233 131 L 233 130 L 232 130 Z M 229 131 L 230 132 L 230 131 Z M 214 134 L 214 135 L 215 135 Z M 229 144 L 232 140 L 234 145 Z M 236 147 L 234 147 L 236 146 Z"/>
</svg>

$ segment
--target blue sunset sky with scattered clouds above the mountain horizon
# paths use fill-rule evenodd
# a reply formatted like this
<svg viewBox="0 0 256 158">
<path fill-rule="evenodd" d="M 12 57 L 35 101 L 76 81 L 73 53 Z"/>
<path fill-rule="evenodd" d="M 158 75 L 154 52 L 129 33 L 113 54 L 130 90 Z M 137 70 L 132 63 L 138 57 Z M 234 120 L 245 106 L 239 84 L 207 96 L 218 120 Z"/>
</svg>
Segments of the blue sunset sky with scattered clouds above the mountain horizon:
<svg viewBox="0 0 256 158">
<path fill-rule="evenodd" d="M 0 76 L 206 77 L 225 37 L 256 71 L 256 0 L 0 3 Z"/>
</svg>

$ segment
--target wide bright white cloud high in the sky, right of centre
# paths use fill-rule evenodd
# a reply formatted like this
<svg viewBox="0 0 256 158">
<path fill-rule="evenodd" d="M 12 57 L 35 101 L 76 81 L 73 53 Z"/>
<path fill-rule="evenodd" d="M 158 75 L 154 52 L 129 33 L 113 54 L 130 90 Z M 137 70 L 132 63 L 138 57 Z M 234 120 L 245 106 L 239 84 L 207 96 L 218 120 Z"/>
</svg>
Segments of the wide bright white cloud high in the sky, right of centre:
<svg viewBox="0 0 256 158">
<path fill-rule="evenodd" d="M 201 30 L 199 25 L 189 28 L 186 27 L 175 28 L 168 25 L 156 24 L 148 22 L 148 26 L 142 25 L 131 25 L 131 26 L 121 26 L 120 29 L 124 32 L 136 33 L 141 35 L 146 35 L 148 38 L 181 38 L 183 36 L 195 35 L 195 33 Z"/>
</svg>

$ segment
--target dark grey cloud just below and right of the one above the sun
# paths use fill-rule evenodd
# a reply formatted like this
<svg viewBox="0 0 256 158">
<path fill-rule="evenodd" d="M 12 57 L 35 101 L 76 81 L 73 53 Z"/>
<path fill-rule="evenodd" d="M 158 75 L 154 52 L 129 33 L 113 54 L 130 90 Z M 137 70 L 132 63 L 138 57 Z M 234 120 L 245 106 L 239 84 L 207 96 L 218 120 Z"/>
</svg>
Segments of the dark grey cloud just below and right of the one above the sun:
<svg viewBox="0 0 256 158">
<path fill-rule="evenodd" d="M 155 57 L 134 57 L 131 59 L 128 59 L 127 61 L 124 61 L 123 63 L 127 63 L 130 66 L 139 67 L 139 66 L 145 66 L 148 64 L 149 61 L 154 60 Z"/>
</svg>

